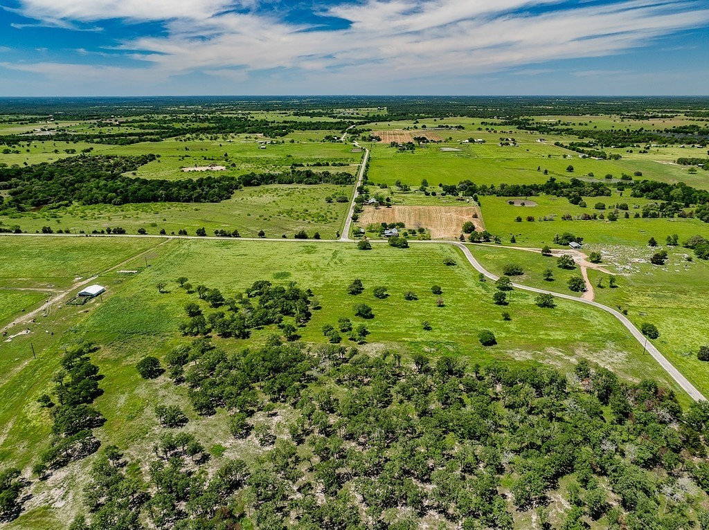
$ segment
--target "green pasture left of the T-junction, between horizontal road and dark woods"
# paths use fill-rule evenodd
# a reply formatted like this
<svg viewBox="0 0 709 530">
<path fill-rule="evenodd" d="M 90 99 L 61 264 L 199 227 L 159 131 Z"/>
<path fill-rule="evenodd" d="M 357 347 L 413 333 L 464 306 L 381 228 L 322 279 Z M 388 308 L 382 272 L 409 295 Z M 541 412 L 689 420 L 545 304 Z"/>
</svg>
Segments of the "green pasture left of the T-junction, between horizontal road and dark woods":
<svg viewBox="0 0 709 530">
<path fill-rule="evenodd" d="M 328 196 L 346 196 L 348 202 L 327 203 Z M 161 229 L 167 234 L 185 229 L 189 235 L 195 235 L 195 230 L 205 227 L 208 235 L 213 235 L 214 230 L 237 229 L 242 237 L 255 237 L 259 230 L 264 230 L 267 237 L 283 234 L 293 237 L 294 232 L 303 229 L 310 235 L 320 232 L 327 239 L 335 237 L 341 229 L 351 198 L 352 186 L 274 184 L 243 188 L 220 203 L 71 205 L 57 210 L 0 215 L 0 222 L 6 226 L 20 225 L 26 232 L 36 232 L 43 226 L 71 233 L 123 227 L 129 234 L 136 234 L 143 227 L 152 235 Z"/>
</svg>

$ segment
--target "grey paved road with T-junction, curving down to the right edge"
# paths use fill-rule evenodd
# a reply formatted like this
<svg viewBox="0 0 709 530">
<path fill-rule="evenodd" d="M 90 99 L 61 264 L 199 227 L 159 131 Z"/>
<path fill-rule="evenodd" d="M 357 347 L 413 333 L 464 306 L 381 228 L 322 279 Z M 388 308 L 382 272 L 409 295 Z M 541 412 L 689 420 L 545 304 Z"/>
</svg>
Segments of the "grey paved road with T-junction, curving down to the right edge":
<svg viewBox="0 0 709 530">
<path fill-rule="evenodd" d="M 367 151 L 365 154 L 364 158 L 364 164 L 367 162 L 367 155 L 369 152 Z M 364 174 L 364 164 L 362 164 L 362 171 L 360 171 L 360 180 L 362 179 L 362 176 Z M 359 186 L 359 184 L 357 184 Z M 355 195 L 356 197 L 356 195 Z M 352 205 L 350 205 L 350 210 L 354 208 L 354 198 L 352 199 Z M 348 218 L 348 221 L 351 221 L 351 212 L 350 212 L 350 217 Z M 199 236 L 181 236 L 179 239 L 219 239 L 219 240 L 227 240 L 227 241 L 233 241 L 233 242 L 239 242 L 239 241 L 271 241 L 271 242 L 291 242 L 291 243 L 298 243 L 298 242 L 308 242 L 308 243 L 335 243 L 335 242 L 352 242 L 352 239 L 349 239 L 349 228 L 350 228 L 351 222 L 346 223 L 347 227 L 347 232 L 342 234 L 342 237 L 340 239 L 267 239 L 264 237 L 211 237 L 211 236 L 204 236 L 204 237 L 199 237 Z M 6 236 L 6 237 L 18 237 L 18 236 L 37 236 L 37 234 L 0 234 L 1 236 Z M 84 235 L 74 235 L 74 234 L 45 234 L 41 235 L 41 237 L 85 237 Z M 133 234 L 125 234 L 125 235 L 99 235 L 95 236 L 92 235 L 91 237 L 158 237 L 162 239 L 176 239 L 176 236 L 171 236 L 171 235 L 133 235 Z M 380 244 L 386 244 L 386 241 L 379 241 L 379 240 L 373 240 L 372 243 L 380 243 Z M 458 247 L 459 249 L 462 250 L 464 256 L 466 259 L 469 261 L 469 263 L 473 266 L 473 268 L 480 272 L 481 274 L 484 274 L 486 278 L 491 279 L 492 281 L 496 281 L 498 279 L 498 276 L 495 276 L 492 274 L 490 271 L 485 269 L 477 259 L 475 259 L 475 256 L 470 252 L 470 249 L 460 243 L 460 242 L 454 242 L 454 241 L 440 241 L 440 240 L 430 240 L 430 241 L 412 241 L 411 244 L 452 244 Z M 515 247 L 510 247 L 510 248 L 515 248 Z M 145 251 L 147 252 L 147 251 Z M 118 266 L 121 266 L 119 264 Z M 115 268 L 115 267 L 113 267 Z M 696 387 L 690 383 L 686 377 L 684 377 L 677 368 L 674 367 L 674 365 L 666 359 L 664 355 L 661 354 L 659 349 L 657 349 L 654 344 L 649 342 L 644 335 L 640 332 L 640 329 L 637 329 L 635 325 L 628 320 L 628 318 L 623 315 L 622 313 L 616 311 L 613 308 L 609 308 L 607 305 L 603 305 L 598 302 L 594 302 L 593 300 L 584 300 L 583 298 L 577 298 L 576 296 L 571 296 L 571 295 L 565 295 L 562 293 L 555 293 L 554 291 L 545 291 L 544 289 L 537 289 L 535 287 L 529 287 L 529 286 L 523 286 L 520 285 L 519 283 L 513 283 L 512 284 L 515 288 L 520 289 L 521 291 L 530 291 L 531 293 L 544 293 L 544 294 L 550 294 L 552 296 L 555 296 L 557 298 L 563 298 L 564 300 L 571 300 L 572 302 L 577 302 L 577 303 L 583 303 L 586 305 L 591 305 L 594 308 L 601 309 L 605 312 L 610 313 L 610 315 L 613 315 L 616 319 L 620 321 L 621 324 L 623 324 L 628 331 L 630 331 L 630 334 L 632 334 L 633 337 L 644 346 L 644 348 L 647 350 L 647 352 L 653 356 L 653 358 L 659 363 L 659 365 L 669 373 L 669 376 L 673 378 L 676 383 L 695 401 L 700 401 L 700 400 L 705 400 L 706 398 L 700 393 L 699 390 L 696 389 Z"/>
</svg>

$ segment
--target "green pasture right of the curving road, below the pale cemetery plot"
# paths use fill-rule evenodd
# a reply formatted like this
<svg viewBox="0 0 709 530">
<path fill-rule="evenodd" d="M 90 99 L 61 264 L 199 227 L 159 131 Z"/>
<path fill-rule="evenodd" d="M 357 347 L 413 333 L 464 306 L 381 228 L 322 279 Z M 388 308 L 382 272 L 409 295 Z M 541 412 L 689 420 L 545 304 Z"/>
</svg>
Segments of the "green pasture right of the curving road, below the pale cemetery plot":
<svg viewBox="0 0 709 530">
<path fill-rule="evenodd" d="M 686 261 L 691 250 L 665 247 L 670 256 L 665 266 L 649 263 L 632 264 L 632 273 L 621 269 L 616 276 L 618 288 L 596 288 L 596 300 L 620 306 L 628 311 L 632 322 L 640 326 L 652 322 L 660 336 L 654 340 L 659 350 L 699 388 L 709 392 L 709 366 L 698 361 L 699 346 L 709 344 L 709 263 L 699 259 Z M 617 253 L 617 249 L 608 249 Z M 647 256 L 643 256 L 647 258 Z M 612 270 L 612 267 L 609 267 Z M 589 270 L 596 284 L 598 271 Z"/>
</svg>

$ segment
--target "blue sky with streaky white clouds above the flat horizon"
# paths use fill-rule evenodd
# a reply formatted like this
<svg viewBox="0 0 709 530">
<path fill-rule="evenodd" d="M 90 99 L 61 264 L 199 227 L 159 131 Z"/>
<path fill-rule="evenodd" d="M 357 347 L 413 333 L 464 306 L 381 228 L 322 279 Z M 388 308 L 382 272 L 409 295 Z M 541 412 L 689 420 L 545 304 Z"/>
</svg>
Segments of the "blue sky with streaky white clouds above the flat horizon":
<svg viewBox="0 0 709 530">
<path fill-rule="evenodd" d="M 0 96 L 709 94 L 707 0 L 0 6 Z"/>
</svg>

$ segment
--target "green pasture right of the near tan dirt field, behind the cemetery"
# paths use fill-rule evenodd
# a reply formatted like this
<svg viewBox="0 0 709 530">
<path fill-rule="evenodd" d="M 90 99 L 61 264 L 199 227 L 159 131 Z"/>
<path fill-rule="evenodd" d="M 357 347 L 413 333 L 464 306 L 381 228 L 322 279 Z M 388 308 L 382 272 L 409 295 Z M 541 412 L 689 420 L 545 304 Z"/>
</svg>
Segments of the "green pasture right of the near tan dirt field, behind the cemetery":
<svg viewBox="0 0 709 530">
<path fill-rule="evenodd" d="M 627 244 L 646 245 L 650 237 L 658 242 L 664 242 L 668 235 L 677 234 L 683 241 L 693 235 L 699 234 L 709 238 L 709 224 L 697 219 L 681 218 L 633 218 L 642 205 L 649 202 L 644 198 L 621 197 L 617 193 L 612 197 L 585 197 L 586 208 L 569 203 L 566 198 L 554 196 L 530 197 L 529 201 L 537 203 L 536 206 L 514 206 L 508 204 L 509 198 L 486 196 L 480 197 L 483 220 L 487 230 L 500 236 L 503 243 L 508 244 L 510 237 L 515 236 L 516 244 L 525 247 L 540 247 L 542 244 L 552 244 L 555 234 L 571 232 L 584 237 L 584 243 L 593 244 Z M 603 202 L 606 210 L 596 210 L 593 206 Z M 576 216 L 582 213 L 608 214 L 616 203 L 627 203 L 630 207 L 630 218 L 623 217 L 611 222 L 608 220 L 562 220 L 561 216 L 569 213 Z M 540 221 L 539 218 L 556 215 L 553 221 Z M 520 216 L 522 222 L 515 219 Z M 535 218 L 533 222 L 527 221 L 527 216 Z"/>
</svg>

